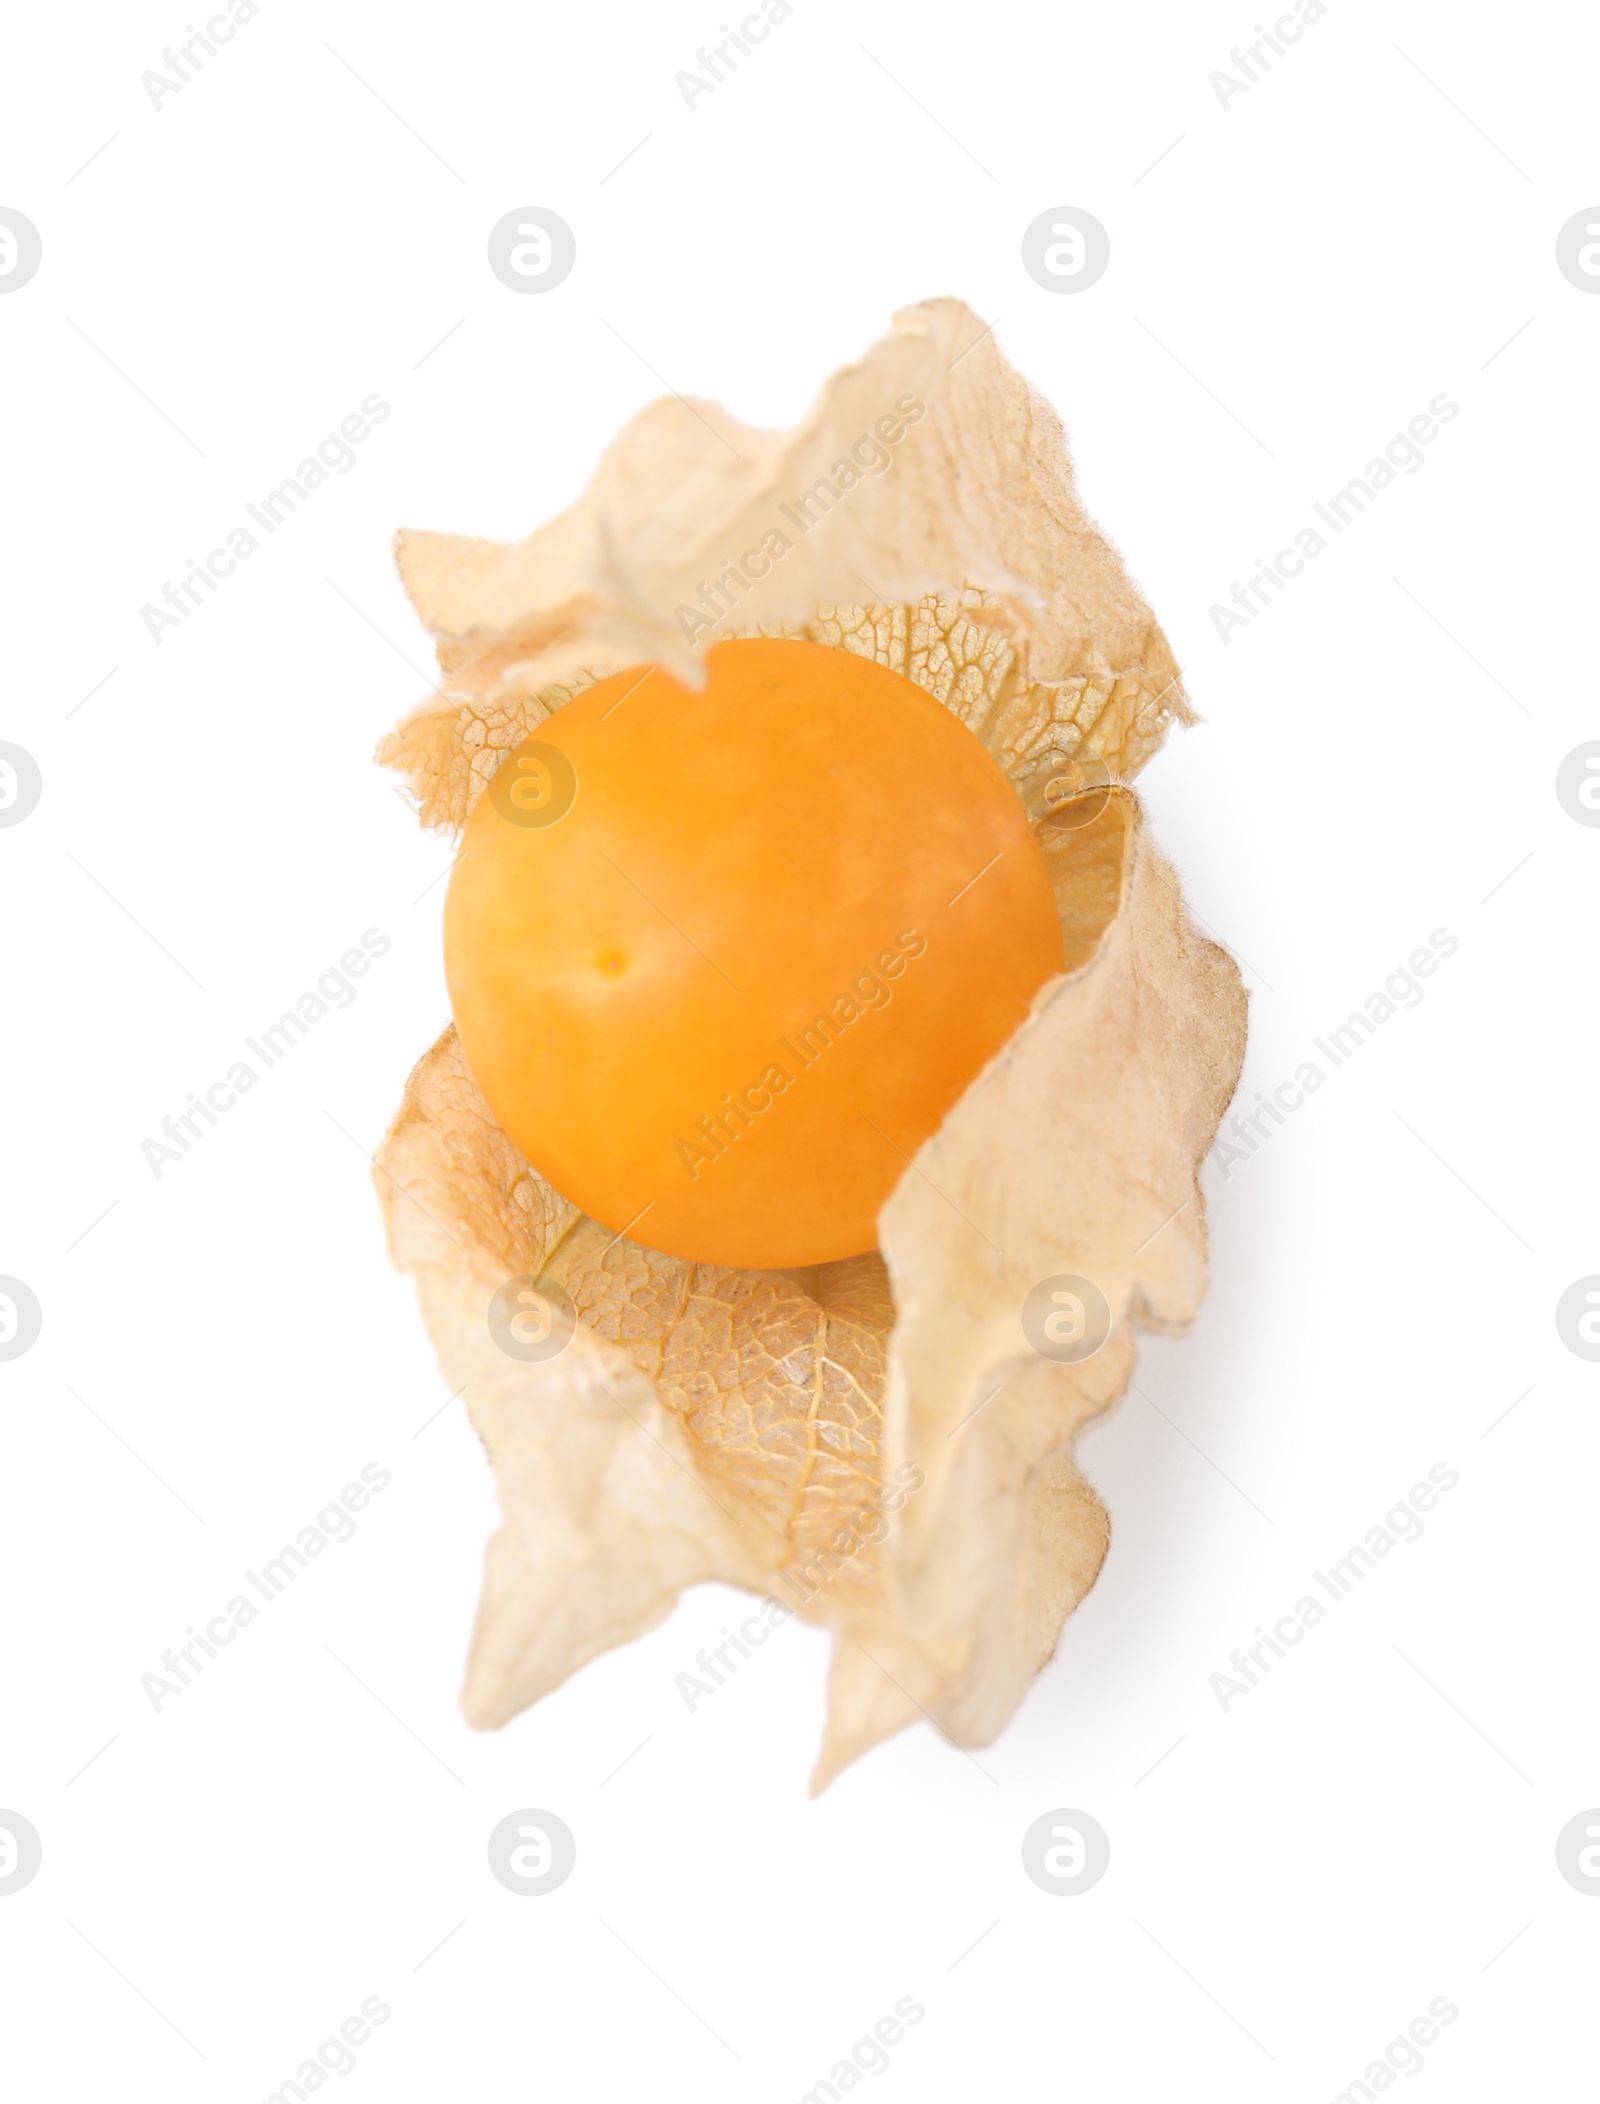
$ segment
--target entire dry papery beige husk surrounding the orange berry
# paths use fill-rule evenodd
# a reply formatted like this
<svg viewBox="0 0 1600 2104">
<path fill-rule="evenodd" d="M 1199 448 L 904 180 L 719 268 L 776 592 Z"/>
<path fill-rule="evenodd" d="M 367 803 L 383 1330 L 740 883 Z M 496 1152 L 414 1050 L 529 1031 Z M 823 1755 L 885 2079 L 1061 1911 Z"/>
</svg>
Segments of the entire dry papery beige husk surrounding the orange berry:
<svg viewBox="0 0 1600 2104">
<path fill-rule="evenodd" d="M 924 414 L 891 467 L 848 484 L 851 446 L 907 398 Z M 701 585 L 821 478 L 832 505 L 712 627 Z M 691 627 L 697 650 L 794 633 L 895 667 L 1034 816 L 1067 968 L 903 1174 L 882 1254 L 728 1271 L 608 1233 L 516 1153 L 453 1031 L 379 1155 L 392 1252 L 501 1496 L 469 1721 L 505 1723 L 718 1578 L 834 1628 L 815 1786 L 918 1715 L 987 1744 L 1105 1555 L 1076 1435 L 1122 1393 L 1135 1332 L 1181 1328 L 1204 1292 L 1196 1178 L 1244 1048 L 1238 972 L 1118 787 L 1187 707 L 1061 425 L 971 309 L 931 301 L 796 431 L 659 402 L 528 541 L 402 534 L 400 566 L 444 677 L 379 757 L 425 825 L 459 829 L 592 680 L 651 656 L 693 675 Z M 537 1365 L 486 1323 L 528 1273 L 577 1309 Z M 1063 1365 L 1021 1307 L 1067 1275 L 1109 1334 Z"/>
</svg>

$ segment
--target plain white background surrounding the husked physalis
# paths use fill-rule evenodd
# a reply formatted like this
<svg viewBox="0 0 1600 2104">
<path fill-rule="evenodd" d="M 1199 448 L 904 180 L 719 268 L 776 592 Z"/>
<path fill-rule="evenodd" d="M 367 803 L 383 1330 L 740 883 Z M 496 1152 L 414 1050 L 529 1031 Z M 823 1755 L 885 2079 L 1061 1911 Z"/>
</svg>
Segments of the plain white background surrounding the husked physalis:
<svg viewBox="0 0 1600 2104">
<path fill-rule="evenodd" d="M 17 11 L 0 90 L 44 242 L 0 299 L 0 736 L 44 772 L 0 831 L 0 1271 L 44 1307 L 0 1365 L 0 1805 L 44 1837 L 6 2089 L 248 2104 L 379 1995 L 352 2096 L 783 2104 L 914 1995 L 884 2093 L 1318 2100 L 1446 1995 L 1429 2093 L 1587 2093 L 1600 1902 L 1554 1841 L 1600 1803 L 1600 1368 L 1554 1304 L 1600 1269 L 1600 831 L 1554 774 L 1600 736 L 1600 299 L 1554 240 L 1600 191 L 1592 13 L 1335 0 L 1223 109 L 1242 0 L 800 0 L 691 112 L 709 0 L 265 0 L 154 109 L 185 19 Z M 522 204 L 577 234 L 545 297 L 484 263 Z M 1059 204 L 1109 229 L 1078 297 L 1019 261 Z M 446 1018 L 448 850 L 371 749 L 432 684 L 396 526 L 528 532 L 663 385 L 789 423 L 935 292 L 1059 406 L 1185 665 L 1204 724 L 1143 789 L 1253 987 L 1242 1102 L 1459 951 L 1208 1170 L 1208 1304 L 1082 1445 L 1112 1555 L 1004 1738 L 918 1725 L 813 1803 L 821 1635 L 674 1690 L 720 1591 L 497 1736 L 457 1715 L 493 1488 L 364 1159 Z M 358 467 L 156 646 L 141 606 L 373 391 Z M 1425 467 L 1223 644 L 1440 391 Z M 154 1178 L 366 928 L 354 1006 Z M 356 1538 L 156 1715 L 162 1650 L 373 1460 Z M 1423 1538 L 1223 1713 L 1434 1462 Z M 577 1835 L 549 1898 L 486 1870 L 520 1805 Z M 1057 1805 L 1112 1837 L 1082 1898 L 1021 1870 Z"/>
</svg>

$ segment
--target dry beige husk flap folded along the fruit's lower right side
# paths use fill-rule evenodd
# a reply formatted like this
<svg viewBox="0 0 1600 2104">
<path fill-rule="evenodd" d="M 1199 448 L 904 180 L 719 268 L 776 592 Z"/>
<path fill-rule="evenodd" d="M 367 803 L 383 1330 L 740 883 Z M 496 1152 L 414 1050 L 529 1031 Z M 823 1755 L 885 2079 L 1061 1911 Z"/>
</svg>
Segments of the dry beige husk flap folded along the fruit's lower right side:
<svg viewBox="0 0 1600 2104">
<path fill-rule="evenodd" d="M 905 1504 L 872 1633 L 836 1645 L 821 1780 L 918 1708 L 964 1746 L 1004 1727 L 1109 1538 L 1072 1443 L 1122 1393 L 1135 1330 L 1181 1330 L 1204 1296 L 1196 1178 L 1238 1081 L 1238 972 L 1189 922 L 1131 795 L 1112 791 L 1067 842 L 1057 892 L 1120 850 L 1120 911 L 880 1216 L 897 1307 L 884 1458 L 926 1485 Z M 1105 1296 L 1093 1357 L 1032 1351 L 1021 1307 L 1044 1279 Z"/>
</svg>

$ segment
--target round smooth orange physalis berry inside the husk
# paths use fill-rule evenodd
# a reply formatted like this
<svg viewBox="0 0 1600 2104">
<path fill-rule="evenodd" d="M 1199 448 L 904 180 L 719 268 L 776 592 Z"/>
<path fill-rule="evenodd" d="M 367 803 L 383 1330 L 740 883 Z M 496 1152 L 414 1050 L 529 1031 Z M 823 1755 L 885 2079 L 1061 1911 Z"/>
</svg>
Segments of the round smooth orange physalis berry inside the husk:
<svg viewBox="0 0 1600 2104">
<path fill-rule="evenodd" d="M 1063 966 L 996 762 L 899 673 L 726 642 L 587 688 L 467 821 L 467 1065 L 617 1235 L 777 1269 L 869 1250 L 912 1155 Z"/>
</svg>

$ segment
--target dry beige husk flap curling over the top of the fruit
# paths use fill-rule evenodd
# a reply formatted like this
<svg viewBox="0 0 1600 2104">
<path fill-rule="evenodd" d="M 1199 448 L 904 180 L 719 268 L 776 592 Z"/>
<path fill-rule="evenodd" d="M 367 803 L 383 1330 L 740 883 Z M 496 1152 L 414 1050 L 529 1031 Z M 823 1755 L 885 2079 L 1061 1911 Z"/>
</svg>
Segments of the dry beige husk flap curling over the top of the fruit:
<svg viewBox="0 0 1600 2104">
<path fill-rule="evenodd" d="M 884 448 L 874 427 L 907 398 L 924 414 Z M 886 471 L 851 461 L 861 442 L 886 450 Z M 802 532 L 800 499 L 840 467 L 853 486 L 813 497 Z M 792 549 L 743 595 L 728 589 L 712 629 L 701 587 L 768 532 Z M 1166 638 L 1078 503 L 1061 421 L 956 299 L 899 313 L 794 431 L 655 402 L 531 539 L 402 532 L 398 558 L 444 677 L 379 757 L 411 781 L 425 825 L 459 829 L 503 755 L 592 680 L 644 659 L 697 680 L 695 621 L 699 652 L 760 627 L 878 656 L 1017 781 L 1084 747 L 1128 778 L 1168 722 L 1187 722 Z M 968 585 L 987 604 L 973 591 L 962 610 Z"/>
</svg>

